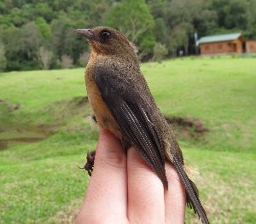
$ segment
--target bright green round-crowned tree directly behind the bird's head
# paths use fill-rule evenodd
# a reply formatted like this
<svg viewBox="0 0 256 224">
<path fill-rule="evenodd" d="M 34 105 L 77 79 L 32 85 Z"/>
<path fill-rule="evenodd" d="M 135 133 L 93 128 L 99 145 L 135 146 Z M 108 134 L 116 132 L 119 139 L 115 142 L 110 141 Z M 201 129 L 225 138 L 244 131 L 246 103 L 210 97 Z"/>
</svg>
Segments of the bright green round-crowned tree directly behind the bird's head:
<svg viewBox="0 0 256 224">
<path fill-rule="evenodd" d="M 152 54 L 154 19 L 144 0 L 123 0 L 116 3 L 105 24 L 123 32 L 137 45 L 139 54 Z"/>
</svg>

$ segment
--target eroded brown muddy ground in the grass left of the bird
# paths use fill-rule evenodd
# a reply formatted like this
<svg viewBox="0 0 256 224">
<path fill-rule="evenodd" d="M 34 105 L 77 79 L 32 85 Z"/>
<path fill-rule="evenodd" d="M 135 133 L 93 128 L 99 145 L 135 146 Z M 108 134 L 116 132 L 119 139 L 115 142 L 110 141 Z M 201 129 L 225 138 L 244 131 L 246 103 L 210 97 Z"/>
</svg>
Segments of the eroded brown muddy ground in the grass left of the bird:
<svg viewBox="0 0 256 224">
<path fill-rule="evenodd" d="M 0 109 L 4 116 L 22 107 L 21 104 L 13 104 L 0 99 Z M 55 135 L 70 119 L 85 116 L 84 112 L 89 108 L 87 96 L 74 97 L 69 101 L 55 101 L 45 106 L 43 111 L 48 114 L 49 119 L 45 123 L 20 123 L 20 119 L 5 124 L 0 129 L 0 150 L 8 148 L 11 142 L 37 142 L 44 141 L 51 135 Z M 40 109 L 42 110 L 42 109 Z M 37 111 L 34 111 L 37 112 Z M 29 117 L 30 114 L 27 114 Z M 44 115 L 43 115 L 44 116 Z M 17 119 L 17 118 L 16 118 Z M 38 118 L 40 119 L 40 118 Z M 43 118 L 44 119 L 44 118 Z M 3 117 L 4 120 L 4 117 Z"/>
</svg>

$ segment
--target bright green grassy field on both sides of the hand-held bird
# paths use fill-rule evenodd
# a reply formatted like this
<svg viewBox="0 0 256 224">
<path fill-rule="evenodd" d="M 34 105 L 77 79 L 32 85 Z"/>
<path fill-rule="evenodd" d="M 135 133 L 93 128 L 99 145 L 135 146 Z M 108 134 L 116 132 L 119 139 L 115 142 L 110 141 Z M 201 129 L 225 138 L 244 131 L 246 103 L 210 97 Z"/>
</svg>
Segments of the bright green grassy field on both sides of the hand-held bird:
<svg viewBox="0 0 256 224">
<path fill-rule="evenodd" d="M 142 65 L 166 116 L 209 130 L 196 138 L 186 130 L 178 141 L 201 171 L 195 182 L 212 223 L 255 222 L 255 62 L 225 56 Z M 84 95 L 84 68 L 0 74 L 0 223 L 73 223 L 89 181 L 76 165 L 97 140 Z M 200 221 L 188 210 L 186 223 Z"/>
</svg>

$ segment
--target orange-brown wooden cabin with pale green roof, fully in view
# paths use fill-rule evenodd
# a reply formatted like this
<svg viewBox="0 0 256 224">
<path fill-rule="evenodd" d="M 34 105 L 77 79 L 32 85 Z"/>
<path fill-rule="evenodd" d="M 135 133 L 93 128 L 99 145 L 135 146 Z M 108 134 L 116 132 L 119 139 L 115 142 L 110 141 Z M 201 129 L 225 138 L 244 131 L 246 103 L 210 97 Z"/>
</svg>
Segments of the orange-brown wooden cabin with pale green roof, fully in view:
<svg viewBox="0 0 256 224">
<path fill-rule="evenodd" d="M 201 37 L 198 41 L 201 55 L 241 54 L 243 42 L 241 33 Z"/>
</svg>

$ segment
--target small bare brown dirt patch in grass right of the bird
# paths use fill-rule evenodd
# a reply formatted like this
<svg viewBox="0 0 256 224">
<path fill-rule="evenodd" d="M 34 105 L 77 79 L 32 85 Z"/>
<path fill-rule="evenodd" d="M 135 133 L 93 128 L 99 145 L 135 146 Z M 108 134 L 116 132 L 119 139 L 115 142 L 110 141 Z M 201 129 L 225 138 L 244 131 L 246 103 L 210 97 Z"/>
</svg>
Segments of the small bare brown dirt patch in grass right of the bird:
<svg viewBox="0 0 256 224">
<path fill-rule="evenodd" d="M 198 141 L 201 136 L 209 132 L 209 129 L 199 119 L 168 116 L 165 118 L 177 137 L 189 137 Z"/>
</svg>

